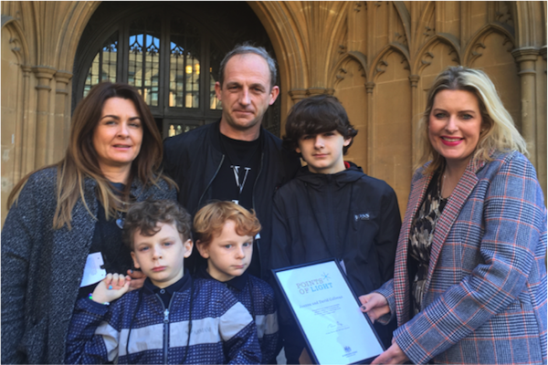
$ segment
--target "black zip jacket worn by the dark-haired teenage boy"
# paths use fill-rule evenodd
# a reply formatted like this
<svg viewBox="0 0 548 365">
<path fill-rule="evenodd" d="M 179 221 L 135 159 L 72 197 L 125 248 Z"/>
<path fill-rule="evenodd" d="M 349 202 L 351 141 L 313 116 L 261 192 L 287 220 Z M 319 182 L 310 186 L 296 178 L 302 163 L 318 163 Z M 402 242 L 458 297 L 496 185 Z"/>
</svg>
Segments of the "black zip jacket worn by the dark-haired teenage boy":
<svg viewBox="0 0 548 365">
<path fill-rule="evenodd" d="M 368 294 L 394 276 L 400 226 L 394 190 L 384 181 L 354 164 L 334 174 L 305 166 L 274 196 L 271 266 L 335 257 L 343 261 L 355 294 Z M 283 303 L 279 308 L 288 364 L 296 363 L 302 339 L 288 308 Z M 389 344 L 393 328 L 375 328 Z"/>
</svg>

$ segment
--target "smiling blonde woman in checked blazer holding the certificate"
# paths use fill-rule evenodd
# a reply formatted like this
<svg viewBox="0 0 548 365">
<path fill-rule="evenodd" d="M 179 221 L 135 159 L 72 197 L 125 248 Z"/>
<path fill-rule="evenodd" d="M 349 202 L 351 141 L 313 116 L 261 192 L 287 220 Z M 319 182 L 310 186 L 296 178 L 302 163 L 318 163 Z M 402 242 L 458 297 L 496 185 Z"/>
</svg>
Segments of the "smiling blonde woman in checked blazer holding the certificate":
<svg viewBox="0 0 548 365">
<path fill-rule="evenodd" d="M 397 318 L 373 364 L 548 364 L 547 210 L 510 113 L 485 73 L 448 68 L 418 129 L 394 279 L 360 297 Z"/>
</svg>

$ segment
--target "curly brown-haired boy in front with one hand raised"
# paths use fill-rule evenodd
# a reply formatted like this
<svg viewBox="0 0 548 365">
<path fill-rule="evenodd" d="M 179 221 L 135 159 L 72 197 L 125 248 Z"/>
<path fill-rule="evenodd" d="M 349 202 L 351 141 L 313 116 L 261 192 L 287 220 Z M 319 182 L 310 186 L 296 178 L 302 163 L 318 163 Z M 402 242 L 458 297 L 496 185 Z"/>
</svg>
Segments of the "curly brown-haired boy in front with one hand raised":
<svg viewBox="0 0 548 365">
<path fill-rule="evenodd" d="M 122 237 L 147 278 L 124 295 L 131 279 L 107 276 L 90 298 L 79 299 L 68 330 L 68 364 L 260 363 L 248 310 L 220 283 L 184 271 L 193 246 L 190 224 L 174 202 L 130 208 Z"/>
</svg>

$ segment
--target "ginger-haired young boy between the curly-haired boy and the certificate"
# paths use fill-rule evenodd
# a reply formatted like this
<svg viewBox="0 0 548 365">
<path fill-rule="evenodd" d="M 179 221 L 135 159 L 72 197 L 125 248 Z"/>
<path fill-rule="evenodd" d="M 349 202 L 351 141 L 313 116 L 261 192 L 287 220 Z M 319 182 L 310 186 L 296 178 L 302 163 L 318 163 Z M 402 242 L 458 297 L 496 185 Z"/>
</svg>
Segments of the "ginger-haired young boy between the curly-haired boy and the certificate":
<svg viewBox="0 0 548 365">
<path fill-rule="evenodd" d="M 274 291 L 248 274 L 253 237 L 260 231 L 255 213 L 232 202 L 205 205 L 195 215 L 196 247 L 207 260 L 196 276 L 224 283 L 255 319 L 262 364 L 275 363 L 278 353 L 278 315 Z"/>
</svg>

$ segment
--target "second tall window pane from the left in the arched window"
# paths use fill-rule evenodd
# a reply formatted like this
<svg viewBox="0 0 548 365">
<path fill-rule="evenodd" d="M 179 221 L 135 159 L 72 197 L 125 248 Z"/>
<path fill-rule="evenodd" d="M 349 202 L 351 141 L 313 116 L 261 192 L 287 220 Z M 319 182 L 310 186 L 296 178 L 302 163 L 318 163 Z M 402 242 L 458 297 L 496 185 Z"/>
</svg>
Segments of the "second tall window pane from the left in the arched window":
<svg viewBox="0 0 548 365">
<path fill-rule="evenodd" d="M 161 25 L 156 18 L 130 26 L 128 83 L 139 89 L 150 106 L 158 106 Z"/>
</svg>

